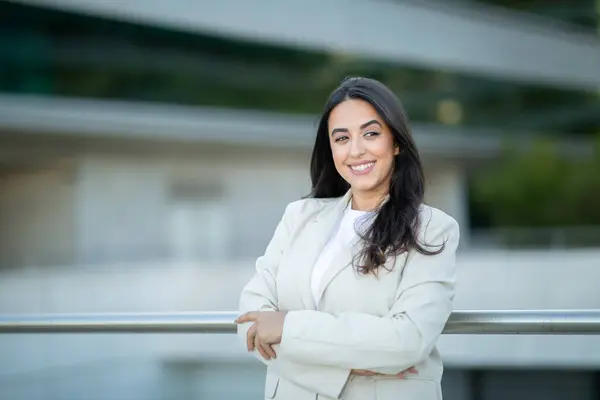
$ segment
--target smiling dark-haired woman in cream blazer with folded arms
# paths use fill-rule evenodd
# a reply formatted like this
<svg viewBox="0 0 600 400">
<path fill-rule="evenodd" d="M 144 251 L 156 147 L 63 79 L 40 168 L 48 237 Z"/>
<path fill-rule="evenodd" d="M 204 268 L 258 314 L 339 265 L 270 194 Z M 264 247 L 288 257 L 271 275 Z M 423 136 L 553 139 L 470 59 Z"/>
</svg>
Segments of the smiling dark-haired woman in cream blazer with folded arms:
<svg viewBox="0 0 600 400">
<path fill-rule="evenodd" d="M 310 198 L 288 205 L 241 294 L 238 334 L 275 399 L 440 400 L 456 221 L 423 204 L 406 114 L 383 84 L 330 96 Z"/>
</svg>

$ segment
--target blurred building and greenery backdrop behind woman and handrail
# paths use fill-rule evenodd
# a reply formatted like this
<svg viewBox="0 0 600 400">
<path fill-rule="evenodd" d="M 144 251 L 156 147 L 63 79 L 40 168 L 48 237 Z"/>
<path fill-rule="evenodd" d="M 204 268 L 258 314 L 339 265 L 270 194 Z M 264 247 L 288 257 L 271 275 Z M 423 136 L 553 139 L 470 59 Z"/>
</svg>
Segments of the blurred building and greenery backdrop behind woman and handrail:
<svg viewBox="0 0 600 400">
<path fill-rule="evenodd" d="M 457 309 L 600 308 L 599 35 L 598 0 L 0 1 L 0 313 L 235 310 L 349 75 L 461 225 Z M 600 337 L 440 348 L 445 399 L 600 399 Z M 263 376 L 232 335 L 0 337 L 1 400 Z"/>
</svg>

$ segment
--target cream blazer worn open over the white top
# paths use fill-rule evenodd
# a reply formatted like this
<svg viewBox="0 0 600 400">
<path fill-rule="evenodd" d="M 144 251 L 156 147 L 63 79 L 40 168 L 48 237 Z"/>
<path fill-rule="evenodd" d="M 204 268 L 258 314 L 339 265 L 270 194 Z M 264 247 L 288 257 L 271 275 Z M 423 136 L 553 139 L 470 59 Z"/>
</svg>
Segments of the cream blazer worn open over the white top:
<svg viewBox="0 0 600 400">
<path fill-rule="evenodd" d="M 452 311 L 456 221 L 435 208 L 420 209 L 420 240 L 446 242 L 434 256 L 410 251 L 388 261 L 391 272 L 359 275 L 350 265 L 358 240 L 347 245 L 323 277 L 315 304 L 312 267 L 351 200 L 304 199 L 289 204 L 244 287 L 240 313 L 288 311 L 277 358 L 267 365 L 265 398 L 441 400 L 442 360 L 436 342 Z M 432 247 L 435 249 L 435 247 Z M 238 328 L 246 343 L 250 324 Z M 350 375 L 351 369 L 406 379 Z"/>
</svg>

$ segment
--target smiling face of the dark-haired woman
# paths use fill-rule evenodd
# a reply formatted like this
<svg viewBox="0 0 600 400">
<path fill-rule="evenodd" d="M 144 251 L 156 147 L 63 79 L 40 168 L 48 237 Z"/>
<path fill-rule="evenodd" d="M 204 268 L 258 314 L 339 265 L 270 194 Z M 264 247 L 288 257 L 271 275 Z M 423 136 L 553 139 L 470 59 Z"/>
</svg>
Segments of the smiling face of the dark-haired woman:
<svg viewBox="0 0 600 400">
<path fill-rule="evenodd" d="M 352 192 L 387 194 L 400 149 L 375 108 L 364 100 L 346 100 L 331 111 L 328 126 L 335 168 Z"/>
</svg>

